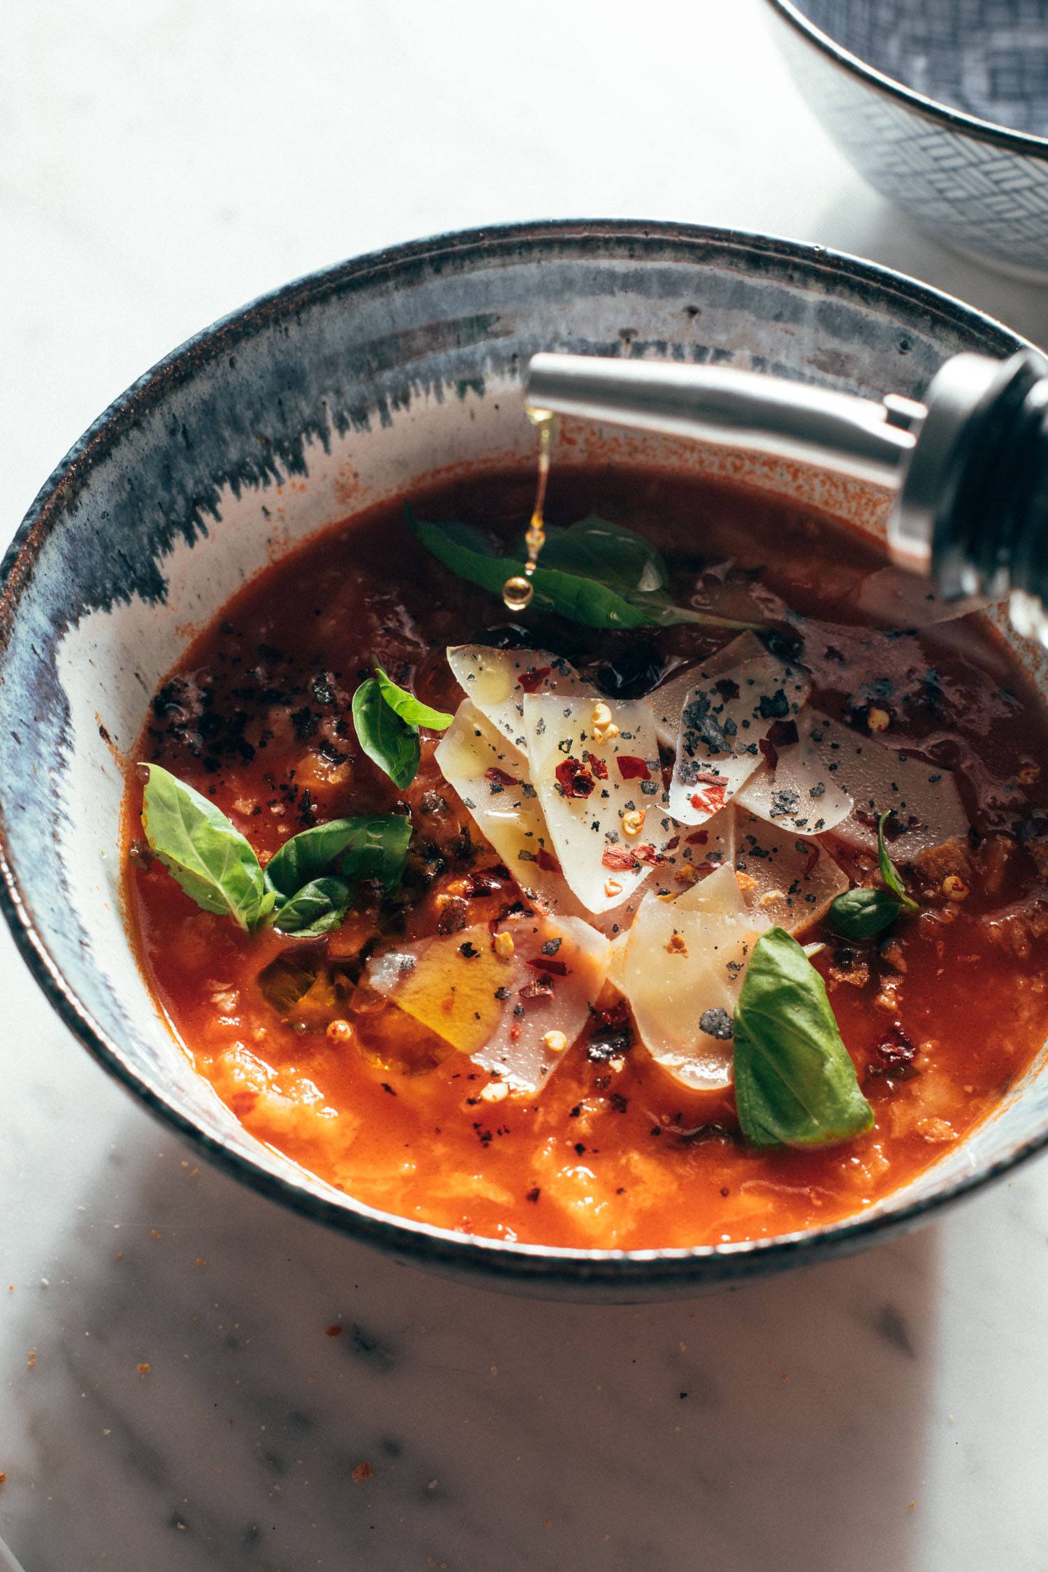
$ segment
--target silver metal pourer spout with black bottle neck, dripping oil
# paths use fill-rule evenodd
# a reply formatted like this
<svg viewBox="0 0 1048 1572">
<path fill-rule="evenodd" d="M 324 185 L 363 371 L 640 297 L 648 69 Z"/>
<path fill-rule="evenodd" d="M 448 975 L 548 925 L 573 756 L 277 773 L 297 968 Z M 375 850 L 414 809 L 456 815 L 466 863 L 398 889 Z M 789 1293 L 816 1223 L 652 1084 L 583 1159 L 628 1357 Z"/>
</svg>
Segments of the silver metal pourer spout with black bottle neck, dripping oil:
<svg viewBox="0 0 1048 1572">
<path fill-rule="evenodd" d="M 1048 645 L 1048 362 L 954 355 L 922 404 L 731 366 L 534 355 L 526 404 L 817 464 L 894 492 L 888 550 Z"/>
</svg>

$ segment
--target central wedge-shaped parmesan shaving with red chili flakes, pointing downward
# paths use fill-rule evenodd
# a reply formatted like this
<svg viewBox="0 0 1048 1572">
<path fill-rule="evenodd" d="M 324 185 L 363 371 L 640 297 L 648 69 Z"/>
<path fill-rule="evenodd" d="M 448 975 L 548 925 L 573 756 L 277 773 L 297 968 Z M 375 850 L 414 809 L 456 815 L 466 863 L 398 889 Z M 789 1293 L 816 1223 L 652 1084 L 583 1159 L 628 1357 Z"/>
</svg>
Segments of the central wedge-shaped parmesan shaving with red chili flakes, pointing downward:
<svg viewBox="0 0 1048 1572">
<path fill-rule="evenodd" d="M 647 879 L 674 835 L 652 703 L 528 693 L 523 712 L 531 780 L 561 872 L 588 912 L 610 912 Z"/>
</svg>

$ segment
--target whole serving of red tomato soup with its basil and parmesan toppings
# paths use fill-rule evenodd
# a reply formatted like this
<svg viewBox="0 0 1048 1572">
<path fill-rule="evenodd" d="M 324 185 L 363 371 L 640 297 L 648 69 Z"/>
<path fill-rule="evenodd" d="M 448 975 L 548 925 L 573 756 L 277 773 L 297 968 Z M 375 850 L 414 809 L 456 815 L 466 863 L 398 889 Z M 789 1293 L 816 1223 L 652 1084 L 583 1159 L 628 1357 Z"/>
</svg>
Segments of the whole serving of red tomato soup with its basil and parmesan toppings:
<svg viewBox="0 0 1048 1572">
<path fill-rule="evenodd" d="M 347 520 L 167 678 L 127 781 L 157 1003 L 247 1130 L 402 1217 L 858 1214 L 1045 1038 L 1039 701 L 974 619 L 864 623 L 842 525 L 661 473 L 555 472 L 511 615 L 529 489 Z"/>
</svg>

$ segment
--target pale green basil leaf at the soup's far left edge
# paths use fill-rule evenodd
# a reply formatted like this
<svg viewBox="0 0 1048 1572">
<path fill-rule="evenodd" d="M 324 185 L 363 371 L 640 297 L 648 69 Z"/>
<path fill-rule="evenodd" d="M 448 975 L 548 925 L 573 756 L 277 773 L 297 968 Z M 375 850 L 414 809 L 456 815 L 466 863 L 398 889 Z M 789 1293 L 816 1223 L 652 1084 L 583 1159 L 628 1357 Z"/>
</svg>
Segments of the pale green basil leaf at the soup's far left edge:
<svg viewBox="0 0 1048 1572">
<path fill-rule="evenodd" d="M 185 894 L 248 932 L 277 896 L 266 887 L 255 847 L 220 808 L 159 764 L 149 764 L 141 824 L 151 850 Z"/>
</svg>

